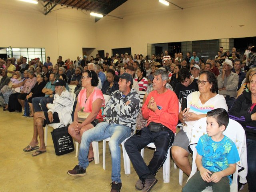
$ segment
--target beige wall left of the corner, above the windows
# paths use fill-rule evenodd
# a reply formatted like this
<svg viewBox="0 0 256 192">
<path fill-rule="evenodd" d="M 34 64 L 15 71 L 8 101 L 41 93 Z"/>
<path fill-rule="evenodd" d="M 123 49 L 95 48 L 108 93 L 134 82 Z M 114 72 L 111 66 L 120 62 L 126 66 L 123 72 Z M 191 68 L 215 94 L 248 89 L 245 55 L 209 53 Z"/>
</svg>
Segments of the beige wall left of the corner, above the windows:
<svg viewBox="0 0 256 192">
<path fill-rule="evenodd" d="M 81 10 L 68 8 L 45 16 L 42 4 L 0 1 L 0 47 L 45 48 L 53 63 L 59 55 L 63 60 L 76 60 L 83 47 L 96 47 L 96 26 L 88 12 L 86 16 Z"/>
</svg>

